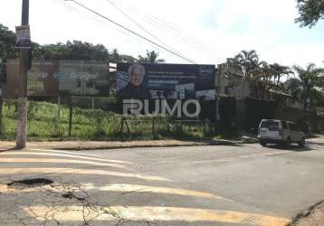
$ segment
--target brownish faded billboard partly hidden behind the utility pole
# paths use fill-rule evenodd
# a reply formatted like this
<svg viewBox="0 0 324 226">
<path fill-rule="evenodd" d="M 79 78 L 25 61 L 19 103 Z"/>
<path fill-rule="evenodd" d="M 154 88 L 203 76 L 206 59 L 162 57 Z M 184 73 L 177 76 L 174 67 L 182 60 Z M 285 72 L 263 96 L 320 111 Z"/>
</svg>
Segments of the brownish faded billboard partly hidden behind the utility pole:
<svg viewBox="0 0 324 226">
<path fill-rule="evenodd" d="M 57 61 L 33 61 L 32 68 L 28 71 L 28 96 L 57 96 L 59 94 L 59 80 L 54 75 L 58 70 Z M 7 60 L 4 89 L 4 96 L 6 98 L 18 97 L 19 90 L 17 84 L 19 80 L 19 59 Z"/>
</svg>

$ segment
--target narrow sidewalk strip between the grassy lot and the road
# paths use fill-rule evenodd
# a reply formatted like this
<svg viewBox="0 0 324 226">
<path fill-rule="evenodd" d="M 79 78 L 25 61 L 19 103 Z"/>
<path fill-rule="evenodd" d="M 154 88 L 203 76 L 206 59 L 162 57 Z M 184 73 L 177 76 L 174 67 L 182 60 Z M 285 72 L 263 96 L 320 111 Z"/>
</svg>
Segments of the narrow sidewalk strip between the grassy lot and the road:
<svg viewBox="0 0 324 226">
<path fill-rule="evenodd" d="M 224 139 L 205 141 L 180 141 L 180 140 L 148 140 L 148 141 L 52 141 L 28 142 L 29 149 L 60 149 L 60 150 L 100 150 L 135 147 L 158 146 L 236 146 L 239 141 Z M 0 152 L 14 149 L 14 142 L 0 141 Z"/>
</svg>

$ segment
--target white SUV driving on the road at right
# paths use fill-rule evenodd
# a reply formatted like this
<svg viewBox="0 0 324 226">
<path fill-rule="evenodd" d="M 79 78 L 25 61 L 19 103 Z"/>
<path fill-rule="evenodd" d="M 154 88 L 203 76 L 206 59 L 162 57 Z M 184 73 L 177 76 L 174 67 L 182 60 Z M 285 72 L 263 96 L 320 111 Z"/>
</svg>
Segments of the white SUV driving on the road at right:
<svg viewBox="0 0 324 226">
<path fill-rule="evenodd" d="M 295 123 L 289 121 L 262 119 L 258 138 L 262 146 L 278 144 L 288 147 L 291 143 L 305 146 L 305 134 Z"/>
</svg>

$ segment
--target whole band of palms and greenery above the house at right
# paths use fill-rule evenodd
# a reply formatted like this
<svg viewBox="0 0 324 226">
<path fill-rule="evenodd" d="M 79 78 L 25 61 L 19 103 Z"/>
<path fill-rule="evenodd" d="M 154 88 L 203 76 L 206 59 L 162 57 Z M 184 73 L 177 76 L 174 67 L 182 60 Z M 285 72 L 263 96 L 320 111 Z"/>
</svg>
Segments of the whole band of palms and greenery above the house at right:
<svg viewBox="0 0 324 226">
<path fill-rule="evenodd" d="M 243 78 L 252 79 L 256 84 L 258 80 L 262 80 L 278 93 L 290 94 L 306 110 L 324 107 L 324 69 L 313 63 L 306 69 L 298 65 L 288 67 L 279 63 L 269 64 L 260 61 L 257 52 L 252 50 L 242 51 L 228 59 L 226 66 L 241 73 Z M 282 82 L 282 77 L 287 77 L 287 80 Z M 262 89 L 262 86 L 259 88 Z"/>
</svg>

